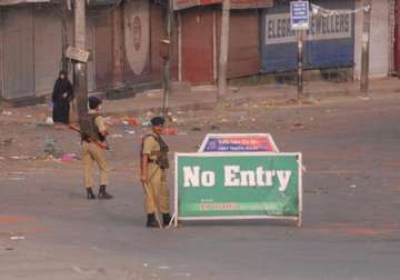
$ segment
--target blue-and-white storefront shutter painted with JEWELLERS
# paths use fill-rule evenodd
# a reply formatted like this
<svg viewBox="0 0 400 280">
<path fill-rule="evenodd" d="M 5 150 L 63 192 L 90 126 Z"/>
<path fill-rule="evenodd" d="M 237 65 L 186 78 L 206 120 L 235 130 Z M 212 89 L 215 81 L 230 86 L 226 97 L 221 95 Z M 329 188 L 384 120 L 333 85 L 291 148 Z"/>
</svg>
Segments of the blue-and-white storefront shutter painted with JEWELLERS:
<svg viewBox="0 0 400 280">
<path fill-rule="evenodd" d="M 353 0 L 313 1 L 326 9 L 354 9 Z M 277 2 L 264 9 L 261 19 L 261 68 L 264 72 L 291 71 L 297 68 L 297 37 L 290 29 L 289 2 Z M 354 17 L 312 16 L 304 38 L 304 68 L 352 67 L 354 63 Z"/>
</svg>

